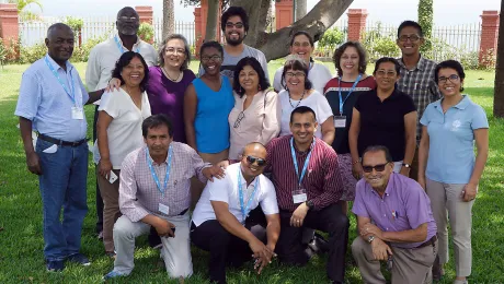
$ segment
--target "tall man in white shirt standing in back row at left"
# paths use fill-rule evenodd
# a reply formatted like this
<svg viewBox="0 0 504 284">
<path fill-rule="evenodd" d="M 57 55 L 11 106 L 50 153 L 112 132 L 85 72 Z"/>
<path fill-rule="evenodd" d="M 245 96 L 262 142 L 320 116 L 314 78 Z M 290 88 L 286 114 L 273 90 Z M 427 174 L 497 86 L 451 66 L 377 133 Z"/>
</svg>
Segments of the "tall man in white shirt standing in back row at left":
<svg viewBox="0 0 504 284">
<path fill-rule="evenodd" d="M 156 64 L 158 55 L 156 49 L 150 44 L 141 40 L 137 36 L 140 26 L 140 17 L 131 7 L 125 7 L 117 13 L 117 35 L 113 38 L 98 44 L 89 55 L 88 68 L 85 70 L 85 85 L 88 90 L 96 91 L 105 88 L 108 81 L 112 79 L 112 71 L 115 68 L 115 62 L 126 51 L 135 51 L 140 54 L 149 67 Z M 98 106 L 100 100 L 94 103 L 96 109 L 94 113 L 93 123 L 93 142 L 96 141 L 96 120 Z M 102 236 L 103 225 L 103 200 L 96 184 L 96 233 L 100 238 Z"/>
</svg>

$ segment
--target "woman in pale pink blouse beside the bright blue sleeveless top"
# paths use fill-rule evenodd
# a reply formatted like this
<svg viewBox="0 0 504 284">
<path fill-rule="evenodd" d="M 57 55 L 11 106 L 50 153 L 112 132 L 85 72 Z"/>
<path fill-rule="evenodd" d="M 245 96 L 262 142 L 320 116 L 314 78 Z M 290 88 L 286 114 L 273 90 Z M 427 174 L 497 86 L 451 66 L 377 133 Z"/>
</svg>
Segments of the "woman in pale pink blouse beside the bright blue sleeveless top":
<svg viewBox="0 0 504 284">
<path fill-rule="evenodd" d="M 257 59 L 245 57 L 234 69 L 234 107 L 229 114 L 231 132 L 229 159 L 239 161 L 251 142 L 266 145 L 280 131 L 278 96 L 267 91 L 270 83 Z"/>
</svg>

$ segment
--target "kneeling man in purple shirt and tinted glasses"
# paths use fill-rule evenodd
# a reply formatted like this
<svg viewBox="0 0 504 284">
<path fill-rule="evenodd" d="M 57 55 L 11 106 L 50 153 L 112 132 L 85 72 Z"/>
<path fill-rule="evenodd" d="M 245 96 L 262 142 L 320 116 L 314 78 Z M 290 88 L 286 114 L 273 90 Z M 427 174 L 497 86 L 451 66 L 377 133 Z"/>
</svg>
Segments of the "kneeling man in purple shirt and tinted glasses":
<svg viewBox="0 0 504 284">
<path fill-rule="evenodd" d="M 357 182 L 352 212 L 360 236 L 352 253 L 365 283 L 386 283 L 380 260 L 388 261 L 394 283 L 431 283 L 437 255 L 431 200 L 411 178 L 393 173 L 386 146 L 363 153 L 364 179 Z"/>
</svg>

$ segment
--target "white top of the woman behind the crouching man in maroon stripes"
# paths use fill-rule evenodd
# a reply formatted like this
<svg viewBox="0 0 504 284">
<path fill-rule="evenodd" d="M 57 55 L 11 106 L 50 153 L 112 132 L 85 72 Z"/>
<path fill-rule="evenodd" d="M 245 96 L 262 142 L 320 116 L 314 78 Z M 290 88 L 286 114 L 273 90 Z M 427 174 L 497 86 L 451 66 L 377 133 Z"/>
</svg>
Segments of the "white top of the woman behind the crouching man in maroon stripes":
<svg viewBox="0 0 504 284">
<path fill-rule="evenodd" d="M 308 97 L 301 99 L 300 103 L 299 103 L 299 100 L 294 100 L 294 99 L 290 99 L 290 102 L 289 102 L 289 92 L 287 92 L 285 90 L 280 91 L 278 93 L 278 96 L 279 96 L 279 99 L 280 99 L 280 104 L 282 104 L 280 134 L 279 134 L 280 137 L 290 134 L 290 126 L 289 126 L 289 123 L 290 123 L 290 113 L 293 113 L 295 107 L 296 106 L 298 106 L 298 107 L 307 106 L 307 107 L 310 107 L 311 109 L 313 109 L 313 111 L 316 113 L 316 116 L 317 116 L 317 123 L 319 123 L 319 126 L 317 127 L 317 131 L 316 131 L 314 135 L 317 138 L 322 139 L 322 123 L 325 122 L 325 120 L 328 120 L 328 118 L 333 116 L 331 106 L 329 105 L 328 99 L 323 95 L 321 95 L 317 91 L 313 91 L 313 93 L 311 93 L 311 95 L 309 95 Z M 298 103 L 299 103 L 299 105 L 298 105 Z M 295 107 L 293 107 L 293 106 L 295 106 Z"/>
</svg>

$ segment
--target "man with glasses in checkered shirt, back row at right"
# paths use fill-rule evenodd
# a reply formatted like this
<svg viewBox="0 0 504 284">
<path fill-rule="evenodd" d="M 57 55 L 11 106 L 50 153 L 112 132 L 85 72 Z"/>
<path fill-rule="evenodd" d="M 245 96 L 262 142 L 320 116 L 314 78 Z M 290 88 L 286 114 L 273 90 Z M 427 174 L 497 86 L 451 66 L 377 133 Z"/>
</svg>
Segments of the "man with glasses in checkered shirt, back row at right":
<svg viewBox="0 0 504 284">
<path fill-rule="evenodd" d="M 425 43 L 422 27 L 414 21 L 404 21 L 398 28 L 397 45 L 402 57 L 398 58 L 401 67 L 398 90 L 410 95 L 419 114 L 416 119 L 416 151 L 410 168 L 410 177 L 417 179 L 419 175 L 419 143 L 422 135 L 420 119 L 428 104 L 440 98 L 439 88 L 434 81 L 436 62 L 426 59 L 420 54 L 420 47 Z"/>
</svg>

